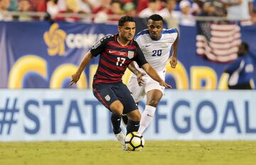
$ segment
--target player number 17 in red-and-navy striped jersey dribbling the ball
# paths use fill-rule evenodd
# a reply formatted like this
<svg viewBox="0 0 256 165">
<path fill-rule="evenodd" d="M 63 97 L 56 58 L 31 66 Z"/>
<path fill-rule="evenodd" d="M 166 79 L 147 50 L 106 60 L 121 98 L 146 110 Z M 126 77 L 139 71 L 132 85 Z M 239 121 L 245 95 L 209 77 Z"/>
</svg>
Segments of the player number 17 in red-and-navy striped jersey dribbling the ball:
<svg viewBox="0 0 256 165">
<path fill-rule="evenodd" d="M 122 114 L 127 114 L 127 134 L 139 129 L 141 114 L 137 104 L 126 85 L 122 83 L 122 75 L 132 61 L 136 61 L 152 79 L 160 86 L 170 88 L 159 74 L 146 62 L 142 50 L 134 41 L 135 21 L 130 16 L 123 16 L 118 22 L 118 34 L 108 35 L 98 41 L 85 54 L 80 66 L 72 75 L 70 85 L 75 84 L 82 71 L 92 57 L 100 55 L 97 72 L 93 78 L 92 89 L 94 96 L 112 112 L 111 121 L 114 135 L 124 147 L 124 133 L 120 128 Z"/>
</svg>

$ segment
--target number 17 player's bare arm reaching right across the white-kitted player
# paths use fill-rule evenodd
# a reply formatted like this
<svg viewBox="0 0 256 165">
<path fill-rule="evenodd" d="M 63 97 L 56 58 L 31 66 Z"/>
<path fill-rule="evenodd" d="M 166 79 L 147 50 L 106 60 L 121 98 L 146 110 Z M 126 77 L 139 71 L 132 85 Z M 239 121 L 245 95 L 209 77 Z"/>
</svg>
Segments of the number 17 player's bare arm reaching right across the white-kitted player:
<svg viewBox="0 0 256 165">
<path fill-rule="evenodd" d="M 142 68 L 145 70 L 146 74 L 149 74 L 149 76 L 152 79 L 158 81 L 161 86 L 164 86 L 169 89 L 171 88 L 169 84 L 167 84 L 163 79 L 161 79 L 159 74 L 157 74 L 156 70 L 153 67 L 151 67 L 149 63 L 142 65 Z"/>
</svg>

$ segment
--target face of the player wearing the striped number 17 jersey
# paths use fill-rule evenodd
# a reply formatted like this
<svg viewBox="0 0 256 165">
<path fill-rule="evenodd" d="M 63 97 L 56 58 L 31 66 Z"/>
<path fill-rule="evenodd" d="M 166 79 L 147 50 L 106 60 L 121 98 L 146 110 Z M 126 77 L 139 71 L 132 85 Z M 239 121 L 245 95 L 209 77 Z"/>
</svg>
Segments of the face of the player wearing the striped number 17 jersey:
<svg viewBox="0 0 256 165">
<path fill-rule="evenodd" d="M 119 36 L 125 41 L 133 40 L 136 30 L 135 28 L 134 22 L 126 22 L 124 25 L 118 27 Z"/>
</svg>

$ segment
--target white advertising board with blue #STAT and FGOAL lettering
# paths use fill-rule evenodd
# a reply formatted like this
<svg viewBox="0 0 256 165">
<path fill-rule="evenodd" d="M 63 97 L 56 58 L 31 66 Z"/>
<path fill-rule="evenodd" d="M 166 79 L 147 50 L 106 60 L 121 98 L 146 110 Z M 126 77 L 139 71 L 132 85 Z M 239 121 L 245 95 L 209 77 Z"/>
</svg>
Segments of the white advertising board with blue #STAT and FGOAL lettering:
<svg viewBox="0 0 256 165">
<path fill-rule="evenodd" d="M 256 140 L 255 98 L 256 91 L 166 90 L 144 137 Z M 114 140 L 110 111 L 90 90 L 1 89 L 0 141 L 49 140 Z"/>
</svg>

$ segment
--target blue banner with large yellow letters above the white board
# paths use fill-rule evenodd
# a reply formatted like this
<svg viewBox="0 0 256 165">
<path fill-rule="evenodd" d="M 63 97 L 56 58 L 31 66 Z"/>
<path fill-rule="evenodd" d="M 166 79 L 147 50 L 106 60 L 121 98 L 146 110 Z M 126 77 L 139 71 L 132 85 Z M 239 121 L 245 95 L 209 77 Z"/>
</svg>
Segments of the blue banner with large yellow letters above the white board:
<svg viewBox="0 0 256 165">
<path fill-rule="evenodd" d="M 143 23 L 137 24 L 141 30 Z M 240 28 L 242 40 L 250 44 L 251 55 L 256 57 L 256 27 Z M 97 40 L 112 33 L 117 33 L 117 25 L 0 22 L 0 88 L 71 88 L 70 75 L 78 68 L 85 52 Z M 97 61 L 92 59 L 73 88 L 91 88 Z M 195 27 L 180 27 L 178 61 L 176 69 L 166 64 L 166 80 L 174 89 L 227 89 L 228 78 L 223 74 L 226 64 L 196 55 Z M 128 78 L 129 72 L 124 75 L 124 82 Z"/>
</svg>

